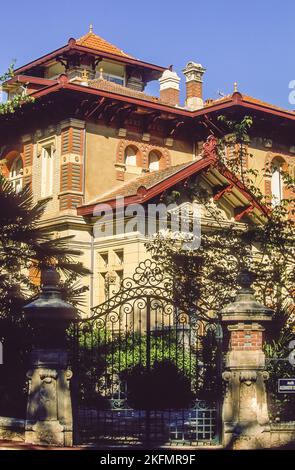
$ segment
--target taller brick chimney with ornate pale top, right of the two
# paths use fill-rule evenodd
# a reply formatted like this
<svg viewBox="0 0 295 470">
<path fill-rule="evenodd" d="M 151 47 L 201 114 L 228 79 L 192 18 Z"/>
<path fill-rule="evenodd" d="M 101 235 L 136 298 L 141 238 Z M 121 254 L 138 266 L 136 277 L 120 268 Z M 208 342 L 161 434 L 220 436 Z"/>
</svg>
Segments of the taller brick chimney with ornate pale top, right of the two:
<svg viewBox="0 0 295 470">
<path fill-rule="evenodd" d="M 187 108 L 195 111 L 204 107 L 203 102 L 203 75 L 206 69 L 201 64 L 188 62 L 183 69 L 186 82 L 186 100 Z"/>
</svg>

